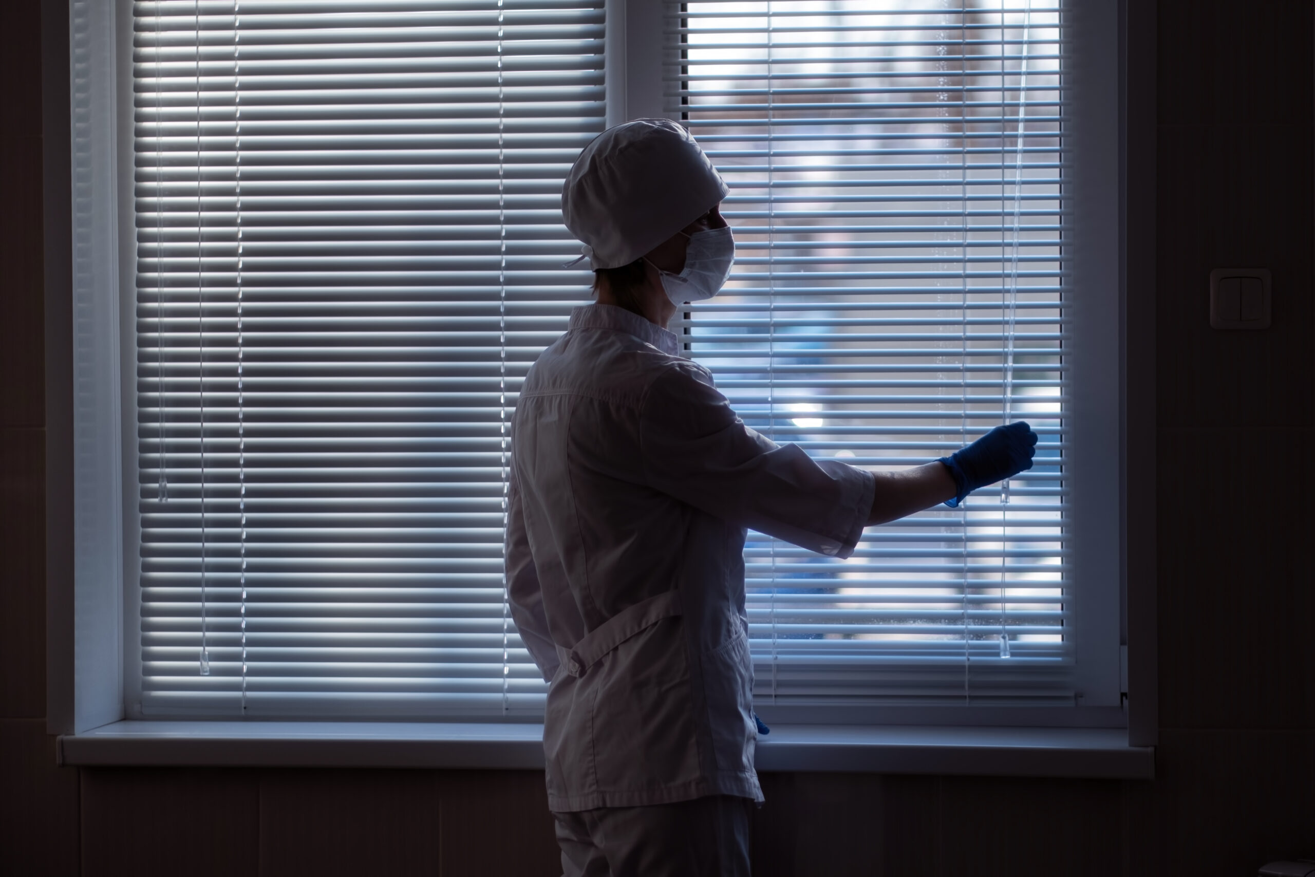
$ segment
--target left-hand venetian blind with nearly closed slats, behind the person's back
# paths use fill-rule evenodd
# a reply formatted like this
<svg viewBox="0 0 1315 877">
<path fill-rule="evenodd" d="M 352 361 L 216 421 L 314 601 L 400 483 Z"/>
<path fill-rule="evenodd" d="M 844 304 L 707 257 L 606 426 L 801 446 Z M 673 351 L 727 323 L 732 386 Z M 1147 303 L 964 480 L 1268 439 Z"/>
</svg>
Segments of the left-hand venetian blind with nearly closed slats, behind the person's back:
<svg viewBox="0 0 1315 877">
<path fill-rule="evenodd" d="M 505 427 L 602 0 L 133 7 L 142 707 L 534 714 Z"/>
</svg>

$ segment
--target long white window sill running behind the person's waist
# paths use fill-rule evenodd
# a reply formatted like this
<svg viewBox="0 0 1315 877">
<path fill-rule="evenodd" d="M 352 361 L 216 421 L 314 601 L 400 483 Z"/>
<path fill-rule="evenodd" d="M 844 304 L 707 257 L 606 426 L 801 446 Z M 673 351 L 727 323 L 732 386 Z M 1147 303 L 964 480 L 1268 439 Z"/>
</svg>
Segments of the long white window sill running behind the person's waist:
<svg viewBox="0 0 1315 877">
<path fill-rule="evenodd" d="M 543 769 L 543 726 L 421 722 L 114 722 L 59 738 L 63 764 Z M 1155 749 L 1123 728 L 781 724 L 759 770 L 1140 778 Z"/>
</svg>

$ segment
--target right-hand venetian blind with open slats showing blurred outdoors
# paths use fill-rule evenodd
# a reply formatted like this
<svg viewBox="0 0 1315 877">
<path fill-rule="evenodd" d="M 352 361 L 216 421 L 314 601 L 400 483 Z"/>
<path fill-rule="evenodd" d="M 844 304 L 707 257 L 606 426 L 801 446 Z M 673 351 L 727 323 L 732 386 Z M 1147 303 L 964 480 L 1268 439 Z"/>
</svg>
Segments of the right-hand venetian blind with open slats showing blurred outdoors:
<svg viewBox="0 0 1315 877">
<path fill-rule="evenodd" d="M 848 560 L 751 535 L 755 702 L 1072 703 L 1057 1 L 668 9 L 668 110 L 738 239 L 685 341 L 742 417 L 871 469 L 1040 435 L 1030 472 Z"/>
</svg>

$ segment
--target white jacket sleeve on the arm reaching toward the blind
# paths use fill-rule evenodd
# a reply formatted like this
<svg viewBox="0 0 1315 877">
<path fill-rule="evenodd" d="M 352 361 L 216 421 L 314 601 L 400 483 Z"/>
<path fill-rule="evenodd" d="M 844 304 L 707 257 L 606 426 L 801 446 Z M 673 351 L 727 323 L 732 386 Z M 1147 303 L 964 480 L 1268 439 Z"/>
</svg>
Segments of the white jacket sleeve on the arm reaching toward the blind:
<svg viewBox="0 0 1315 877">
<path fill-rule="evenodd" d="M 744 426 L 700 366 L 672 364 L 654 380 L 639 423 L 652 488 L 801 548 L 835 557 L 853 552 L 876 479 Z"/>
</svg>

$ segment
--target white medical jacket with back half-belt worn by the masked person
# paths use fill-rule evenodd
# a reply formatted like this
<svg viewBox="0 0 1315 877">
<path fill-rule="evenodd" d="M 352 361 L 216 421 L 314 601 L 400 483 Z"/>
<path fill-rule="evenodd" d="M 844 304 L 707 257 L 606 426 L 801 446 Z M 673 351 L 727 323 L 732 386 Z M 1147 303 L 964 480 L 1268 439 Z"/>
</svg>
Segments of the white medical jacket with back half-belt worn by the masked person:
<svg viewBox="0 0 1315 877">
<path fill-rule="evenodd" d="M 746 529 L 846 557 L 872 475 L 748 429 L 676 335 L 610 305 L 530 368 L 512 437 L 508 590 L 550 681 L 548 806 L 761 801 Z"/>
</svg>

